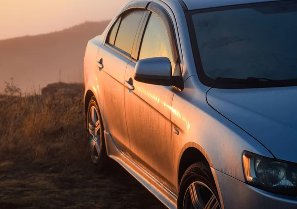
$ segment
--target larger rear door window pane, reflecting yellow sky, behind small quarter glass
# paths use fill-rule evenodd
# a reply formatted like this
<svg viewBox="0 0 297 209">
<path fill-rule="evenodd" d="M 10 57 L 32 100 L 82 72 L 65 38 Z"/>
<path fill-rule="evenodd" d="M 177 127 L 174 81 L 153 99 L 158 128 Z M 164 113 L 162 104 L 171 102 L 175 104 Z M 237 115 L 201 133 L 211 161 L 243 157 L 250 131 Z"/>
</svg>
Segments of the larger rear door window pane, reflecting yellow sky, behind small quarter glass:
<svg viewBox="0 0 297 209">
<path fill-rule="evenodd" d="M 144 9 L 137 9 L 122 16 L 114 46 L 131 54 L 134 39 L 144 12 Z"/>
</svg>

